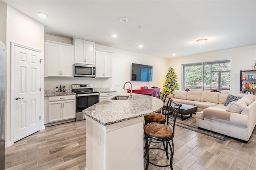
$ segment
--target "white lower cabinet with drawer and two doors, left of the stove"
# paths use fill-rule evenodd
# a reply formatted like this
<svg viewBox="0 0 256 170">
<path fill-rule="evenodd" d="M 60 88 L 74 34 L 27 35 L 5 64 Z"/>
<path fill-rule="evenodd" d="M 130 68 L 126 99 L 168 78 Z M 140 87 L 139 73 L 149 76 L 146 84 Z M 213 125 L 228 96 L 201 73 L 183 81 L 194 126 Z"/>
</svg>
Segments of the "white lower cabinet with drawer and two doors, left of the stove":
<svg viewBox="0 0 256 170">
<path fill-rule="evenodd" d="M 76 96 L 54 96 L 48 98 L 48 122 L 52 123 L 76 118 Z"/>
</svg>

